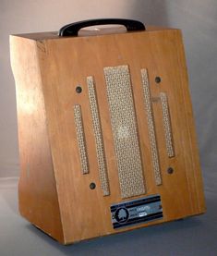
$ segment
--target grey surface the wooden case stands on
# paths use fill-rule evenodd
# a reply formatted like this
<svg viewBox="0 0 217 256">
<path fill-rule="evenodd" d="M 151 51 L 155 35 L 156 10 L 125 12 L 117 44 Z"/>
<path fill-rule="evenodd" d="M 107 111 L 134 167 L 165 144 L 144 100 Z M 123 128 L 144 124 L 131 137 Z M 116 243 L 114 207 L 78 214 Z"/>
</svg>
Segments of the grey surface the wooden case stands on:
<svg viewBox="0 0 217 256">
<path fill-rule="evenodd" d="M 204 177 L 207 213 L 63 246 L 18 214 L 18 179 L 0 179 L 0 256 L 217 255 L 217 173 Z"/>
</svg>

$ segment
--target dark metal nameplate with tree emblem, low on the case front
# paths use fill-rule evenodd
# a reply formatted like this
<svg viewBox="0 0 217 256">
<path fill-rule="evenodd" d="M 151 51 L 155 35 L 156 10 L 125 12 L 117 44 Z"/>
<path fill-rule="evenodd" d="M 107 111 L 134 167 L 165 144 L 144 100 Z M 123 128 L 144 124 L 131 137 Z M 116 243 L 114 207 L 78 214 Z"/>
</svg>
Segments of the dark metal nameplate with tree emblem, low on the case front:
<svg viewBox="0 0 217 256">
<path fill-rule="evenodd" d="M 114 228 L 137 225 L 163 218 L 160 195 L 139 198 L 111 205 Z"/>
</svg>

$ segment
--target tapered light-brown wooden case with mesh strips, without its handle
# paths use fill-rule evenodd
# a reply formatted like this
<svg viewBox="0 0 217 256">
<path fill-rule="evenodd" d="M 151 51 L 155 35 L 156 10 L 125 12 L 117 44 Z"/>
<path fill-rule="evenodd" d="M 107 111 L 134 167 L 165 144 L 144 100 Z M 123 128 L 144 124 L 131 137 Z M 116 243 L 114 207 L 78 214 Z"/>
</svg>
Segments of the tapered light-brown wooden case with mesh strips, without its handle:
<svg viewBox="0 0 217 256">
<path fill-rule="evenodd" d="M 13 35 L 10 51 L 30 223 L 68 244 L 204 213 L 180 30 Z M 113 213 L 155 197 L 160 217 Z"/>
</svg>

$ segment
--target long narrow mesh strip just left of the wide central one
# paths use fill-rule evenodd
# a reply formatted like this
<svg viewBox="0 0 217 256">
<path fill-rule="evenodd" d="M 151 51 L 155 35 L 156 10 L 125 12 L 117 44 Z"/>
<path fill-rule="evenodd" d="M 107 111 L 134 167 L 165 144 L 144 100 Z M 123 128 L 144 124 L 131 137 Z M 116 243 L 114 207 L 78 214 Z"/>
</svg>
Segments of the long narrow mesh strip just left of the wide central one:
<svg viewBox="0 0 217 256">
<path fill-rule="evenodd" d="M 88 89 L 89 89 L 89 100 L 90 100 L 90 111 L 92 117 L 92 126 L 94 131 L 94 138 L 96 144 L 97 161 L 99 167 L 99 174 L 101 180 L 101 187 L 104 196 L 108 196 L 109 192 L 109 182 L 107 176 L 107 167 L 104 156 L 103 140 L 102 140 L 102 128 L 100 122 L 100 116 L 98 111 L 98 104 L 96 99 L 94 81 L 92 77 L 87 78 Z"/>
</svg>

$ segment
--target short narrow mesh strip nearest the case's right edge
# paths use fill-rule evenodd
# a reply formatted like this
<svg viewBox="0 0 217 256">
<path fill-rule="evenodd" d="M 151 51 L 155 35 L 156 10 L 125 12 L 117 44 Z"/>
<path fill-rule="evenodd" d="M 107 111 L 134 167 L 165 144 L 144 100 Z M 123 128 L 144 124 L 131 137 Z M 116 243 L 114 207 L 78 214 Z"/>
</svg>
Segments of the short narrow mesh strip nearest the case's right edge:
<svg viewBox="0 0 217 256">
<path fill-rule="evenodd" d="M 166 151 L 169 157 L 173 157 L 175 156 L 175 151 L 174 151 L 174 144 L 173 144 L 173 137 L 172 137 L 169 104 L 168 104 L 168 100 L 165 92 L 161 92 L 160 96 L 161 96 L 162 110 L 163 110 L 163 128 L 165 133 Z"/>
</svg>

